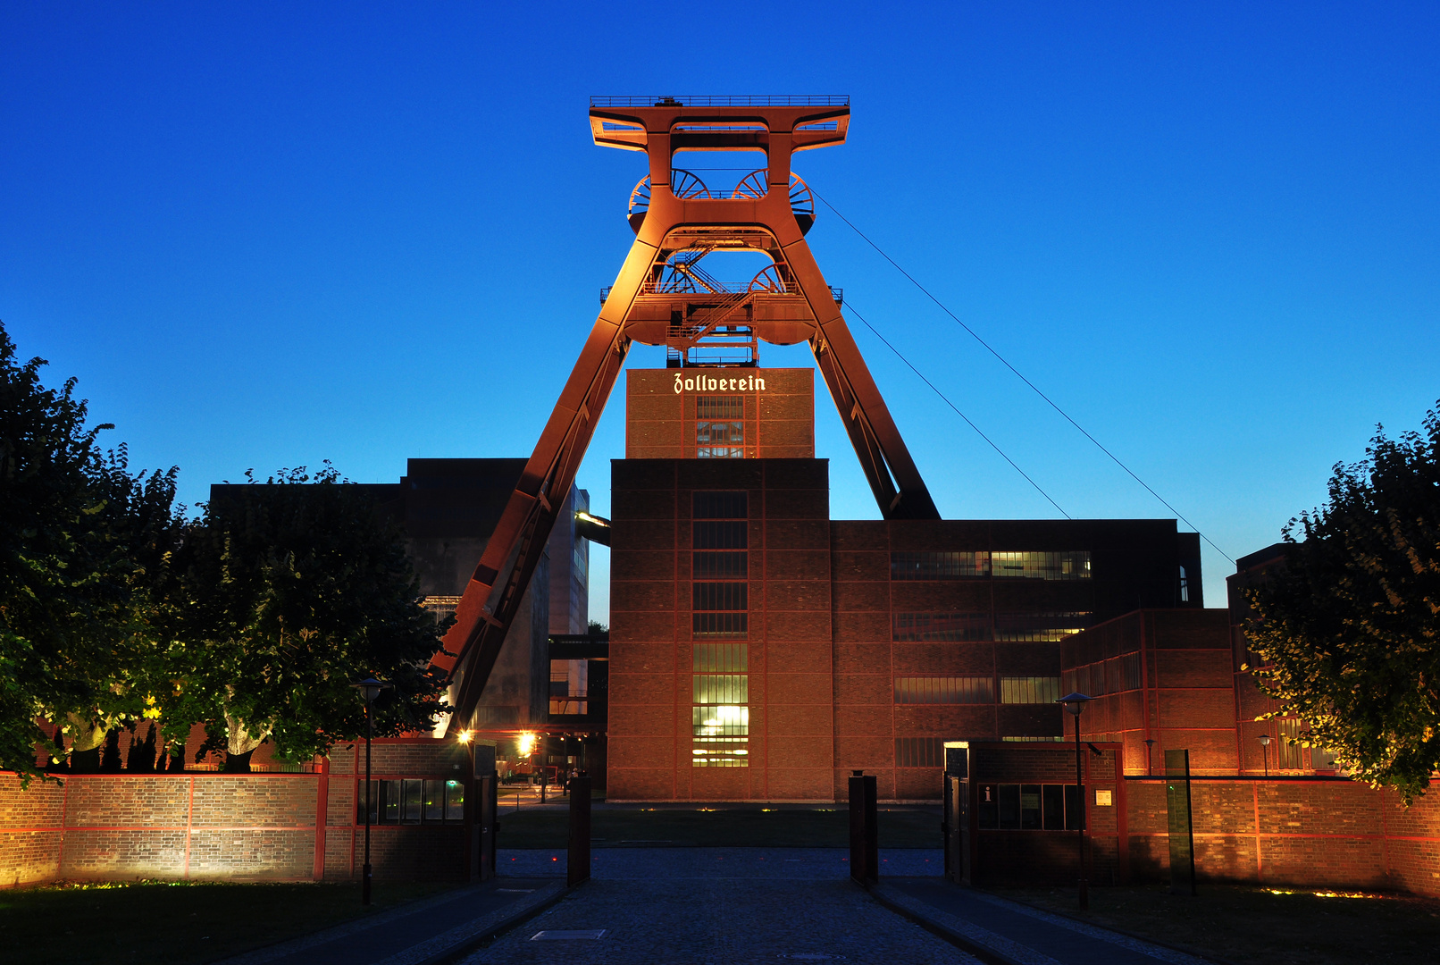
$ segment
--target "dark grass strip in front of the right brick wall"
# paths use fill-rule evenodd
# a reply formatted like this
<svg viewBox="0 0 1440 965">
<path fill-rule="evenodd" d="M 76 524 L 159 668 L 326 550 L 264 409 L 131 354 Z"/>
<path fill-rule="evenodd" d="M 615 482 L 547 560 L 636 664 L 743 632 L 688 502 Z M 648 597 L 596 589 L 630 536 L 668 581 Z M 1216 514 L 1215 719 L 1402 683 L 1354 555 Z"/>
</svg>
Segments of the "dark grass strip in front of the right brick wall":
<svg viewBox="0 0 1440 965">
<path fill-rule="evenodd" d="M 1197 897 L 1165 886 L 995 889 L 996 894 L 1107 925 L 1236 965 L 1413 965 L 1440 961 L 1440 900 L 1201 884 Z M 1333 894 L 1333 893 L 1331 893 Z"/>
</svg>

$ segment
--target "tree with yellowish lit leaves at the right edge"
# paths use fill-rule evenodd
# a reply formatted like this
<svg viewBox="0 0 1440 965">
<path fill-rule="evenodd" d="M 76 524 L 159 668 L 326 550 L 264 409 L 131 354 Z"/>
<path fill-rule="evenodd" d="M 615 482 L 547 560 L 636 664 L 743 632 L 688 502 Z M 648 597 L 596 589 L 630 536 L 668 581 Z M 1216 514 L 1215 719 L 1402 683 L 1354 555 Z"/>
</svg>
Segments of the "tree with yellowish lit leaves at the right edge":
<svg viewBox="0 0 1440 965">
<path fill-rule="evenodd" d="M 1250 591 L 1256 681 L 1309 742 L 1408 805 L 1440 768 L 1440 415 L 1336 464 L 1329 500 L 1284 527 Z"/>
</svg>

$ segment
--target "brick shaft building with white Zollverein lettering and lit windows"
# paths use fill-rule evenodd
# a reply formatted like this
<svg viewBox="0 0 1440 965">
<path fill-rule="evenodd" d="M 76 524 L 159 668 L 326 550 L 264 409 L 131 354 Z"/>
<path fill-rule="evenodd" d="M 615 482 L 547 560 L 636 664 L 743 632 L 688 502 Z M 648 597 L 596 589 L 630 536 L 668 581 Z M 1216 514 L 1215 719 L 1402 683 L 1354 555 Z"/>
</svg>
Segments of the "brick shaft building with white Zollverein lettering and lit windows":
<svg viewBox="0 0 1440 965">
<path fill-rule="evenodd" d="M 1064 637 L 1202 606 L 1174 520 L 831 520 L 814 405 L 806 369 L 628 372 L 611 799 L 935 798 L 946 740 L 1060 737 Z"/>
</svg>

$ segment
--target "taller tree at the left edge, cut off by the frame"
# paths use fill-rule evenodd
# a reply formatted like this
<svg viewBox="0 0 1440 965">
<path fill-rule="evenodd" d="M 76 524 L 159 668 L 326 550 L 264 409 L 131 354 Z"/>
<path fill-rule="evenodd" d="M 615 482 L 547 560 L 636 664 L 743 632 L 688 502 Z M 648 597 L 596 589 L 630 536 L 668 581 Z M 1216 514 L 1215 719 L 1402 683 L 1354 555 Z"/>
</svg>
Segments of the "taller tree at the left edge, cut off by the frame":
<svg viewBox="0 0 1440 965">
<path fill-rule="evenodd" d="M 35 745 L 62 722 L 71 753 L 141 714 L 141 652 L 154 648 L 154 588 L 176 533 L 176 470 L 128 471 L 86 426 L 75 379 L 40 383 L 0 326 L 0 768 L 39 773 Z M 58 748 L 55 748 L 58 750 Z"/>
</svg>

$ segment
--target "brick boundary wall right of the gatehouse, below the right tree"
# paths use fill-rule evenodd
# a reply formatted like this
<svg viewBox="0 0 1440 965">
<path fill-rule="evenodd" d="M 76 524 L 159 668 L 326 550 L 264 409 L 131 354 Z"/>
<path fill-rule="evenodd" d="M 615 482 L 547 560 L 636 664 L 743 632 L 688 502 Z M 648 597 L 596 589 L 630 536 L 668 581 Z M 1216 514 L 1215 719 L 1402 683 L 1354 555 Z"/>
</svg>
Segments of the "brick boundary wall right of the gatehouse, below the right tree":
<svg viewBox="0 0 1440 965">
<path fill-rule="evenodd" d="M 1169 879 L 1164 778 L 1128 778 L 1129 871 Z M 1344 778 L 1194 778 L 1195 876 L 1440 896 L 1440 799 Z"/>
</svg>

